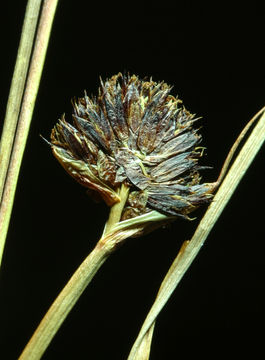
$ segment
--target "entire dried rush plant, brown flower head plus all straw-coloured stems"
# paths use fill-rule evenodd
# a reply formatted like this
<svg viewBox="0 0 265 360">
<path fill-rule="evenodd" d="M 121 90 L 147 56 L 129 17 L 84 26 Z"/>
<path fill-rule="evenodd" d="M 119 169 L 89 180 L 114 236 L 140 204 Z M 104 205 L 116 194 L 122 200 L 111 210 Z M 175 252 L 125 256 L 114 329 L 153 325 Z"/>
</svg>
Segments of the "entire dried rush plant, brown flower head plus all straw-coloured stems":
<svg viewBox="0 0 265 360">
<path fill-rule="evenodd" d="M 21 77 L 18 75 L 25 54 L 29 63 L 40 5 L 36 0 L 28 3 L 1 139 L 1 254 L 57 1 L 43 2 L 31 63 L 29 67 L 23 65 L 25 73 Z M 103 200 L 109 206 L 109 218 L 94 250 L 51 305 L 21 354 L 21 360 L 41 358 L 98 269 L 125 239 L 141 236 L 177 219 L 191 220 L 192 211 L 210 204 L 194 236 L 183 243 L 170 267 L 128 357 L 129 360 L 149 359 L 159 312 L 265 140 L 263 108 L 240 133 L 219 178 L 213 183 L 201 182 L 204 167 L 199 160 L 204 148 L 196 129 L 198 119 L 171 90 L 164 82 L 119 73 L 101 81 L 96 97 L 89 98 L 85 93 L 73 100 L 73 120 L 66 121 L 63 115 L 53 128 L 51 139 L 46 140 L 67 173 L 84 186 L 92 198 Z M 14 94 L 19 96 L 15 99 Z M 235 150 L 257 119 L 227 172 Z"/>
</svg>

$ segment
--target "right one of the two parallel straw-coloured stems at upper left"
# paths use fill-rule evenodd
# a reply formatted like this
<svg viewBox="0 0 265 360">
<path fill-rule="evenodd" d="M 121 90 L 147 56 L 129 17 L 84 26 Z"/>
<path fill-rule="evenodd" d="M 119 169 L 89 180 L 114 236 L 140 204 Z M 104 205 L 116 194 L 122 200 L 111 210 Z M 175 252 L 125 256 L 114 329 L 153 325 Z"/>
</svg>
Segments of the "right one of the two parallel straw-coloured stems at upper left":
<svg viewBox="0 0 265 360">
<path fill-rule="evenodd" d="M 42 7 L 41 18 L 38 26 L 26 89 L 19 116 L 15 142 L 0 207 L 0 262 L 2 259 L 19 170 L 26 146 L 57 3 L 58 0 L 46 0 L 44 1 Z"/>
</svg>

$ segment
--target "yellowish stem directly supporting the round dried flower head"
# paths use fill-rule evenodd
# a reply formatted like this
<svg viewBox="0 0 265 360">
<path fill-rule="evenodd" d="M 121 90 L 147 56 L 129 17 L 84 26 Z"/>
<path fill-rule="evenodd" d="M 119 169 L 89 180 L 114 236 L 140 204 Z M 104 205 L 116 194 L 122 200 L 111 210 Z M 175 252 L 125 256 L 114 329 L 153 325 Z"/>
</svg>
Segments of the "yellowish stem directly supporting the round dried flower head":
<svg viewBox="0 0 265 360">
<path fill-rule="evenodd" d="M 19 357 L 19 360 L 38 360 L 41 358 L 63 321 L 93 279 L 96 272 L 100 269 L 109 255 L 116 249 L 116 245 L 138 231 L 137 228 L 131 230 L 124 229 L 116 232 L 112 231 L 120 221 L 123 207 L 128 197 L 128 192 L 129 188 L 122 185 L 119 191 L 121 201 L 113 205 L 110 210 L 109 219 L 104 231 L 105 236 L 102 236 L 98 241 L 94 250 L 82 262 L 51 305 Z"/>
</svg>

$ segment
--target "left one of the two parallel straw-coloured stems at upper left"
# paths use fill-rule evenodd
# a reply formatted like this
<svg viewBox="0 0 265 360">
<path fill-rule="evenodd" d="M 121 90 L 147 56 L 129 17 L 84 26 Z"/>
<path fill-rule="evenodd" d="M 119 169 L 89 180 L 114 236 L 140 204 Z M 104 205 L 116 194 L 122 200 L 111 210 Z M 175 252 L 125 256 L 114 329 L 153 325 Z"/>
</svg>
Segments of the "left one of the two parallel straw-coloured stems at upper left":
<svg viewBox="0 0 265 360">
<path fill-rule="evenodd" d="M 7 169 L 15 137 L 21 99 L 32 52 L 33 40 L 39 18 L 41 0 L 29 0 L 26 8 L 16 64 L 11 81 L 6 115 L 0 142 L 0 200 L 2 198 Z"/>
</svg>

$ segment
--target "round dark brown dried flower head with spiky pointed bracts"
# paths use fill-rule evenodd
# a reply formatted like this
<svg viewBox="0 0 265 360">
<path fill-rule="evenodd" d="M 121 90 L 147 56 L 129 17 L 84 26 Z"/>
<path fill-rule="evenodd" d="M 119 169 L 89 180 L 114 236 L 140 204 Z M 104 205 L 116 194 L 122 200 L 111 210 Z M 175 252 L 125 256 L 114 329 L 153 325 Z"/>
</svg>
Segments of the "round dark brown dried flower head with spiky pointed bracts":
<svg viewBox="0 0 265 360">
<path fill-rule="evenodd" d="M 108 205 L 120 201 L 122 183 L 130 187 L 122 220 L 151 210 L 187 218 L 212 197 L 212 184 L 200 184 L 196 119 L 170 90 L 115 75 L 101 81 L 97 98 L 73 102 L 73 125 L 63 116 L 52 130 L 55 157 Z"/>
</svg>

